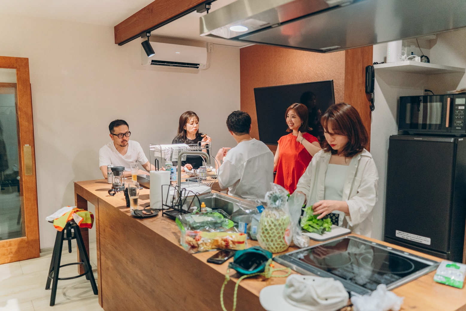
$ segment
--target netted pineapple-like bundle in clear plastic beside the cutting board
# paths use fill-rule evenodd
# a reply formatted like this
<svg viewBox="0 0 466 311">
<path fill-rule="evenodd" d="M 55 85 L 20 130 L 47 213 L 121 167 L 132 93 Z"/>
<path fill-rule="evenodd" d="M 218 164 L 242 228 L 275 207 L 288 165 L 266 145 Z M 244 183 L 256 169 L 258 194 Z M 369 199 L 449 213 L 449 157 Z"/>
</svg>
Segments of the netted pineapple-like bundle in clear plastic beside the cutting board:
<svg viewBox="0 0 466 311">
<path fill-rule="evenodd" d="M 272 253 L 280 253 L 291 243 L 291 221 L 288 213 L 288 191 L 271 184 L 272 190 L 267 192 L 265 200 L 267 208 L 261 213 L 257 241 L 260 247 Z"/>
</svg>

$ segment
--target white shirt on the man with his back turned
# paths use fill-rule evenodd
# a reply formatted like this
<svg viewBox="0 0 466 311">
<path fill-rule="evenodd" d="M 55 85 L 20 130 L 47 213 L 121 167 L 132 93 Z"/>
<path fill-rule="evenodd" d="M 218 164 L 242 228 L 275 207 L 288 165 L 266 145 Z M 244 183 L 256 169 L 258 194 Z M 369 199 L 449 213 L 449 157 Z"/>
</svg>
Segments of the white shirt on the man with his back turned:
<svg viewBox="0 0 466 311">
<path fill-rule="evenodd" d="M 230 195 L 264 201 L 274 182 L 274 154 L 255 138 L 242 141 L 226 154 L 218 181 Z"/>
</svg>

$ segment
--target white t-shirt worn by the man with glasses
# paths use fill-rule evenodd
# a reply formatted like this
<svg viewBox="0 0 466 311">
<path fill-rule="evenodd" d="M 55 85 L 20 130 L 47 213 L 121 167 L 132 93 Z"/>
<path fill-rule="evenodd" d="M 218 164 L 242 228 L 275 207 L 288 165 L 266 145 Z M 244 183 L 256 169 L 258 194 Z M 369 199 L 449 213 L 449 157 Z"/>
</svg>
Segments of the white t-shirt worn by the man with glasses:
<svg viewBox="0 0 466 311">
<path fill-rule="evenodd" d="M 111 164 L 113 166 L 124 166 L 125 171 L 131 171 L 131 163 L 139 162 L 139 164 L 143 165 L 147 161 L 143 148 L 134 140 L 128 140 L 128 151 L 124 156 L 115 148 L 113 141 L 110 141 L 99 150 L 99 167 Z"/>
</svg>

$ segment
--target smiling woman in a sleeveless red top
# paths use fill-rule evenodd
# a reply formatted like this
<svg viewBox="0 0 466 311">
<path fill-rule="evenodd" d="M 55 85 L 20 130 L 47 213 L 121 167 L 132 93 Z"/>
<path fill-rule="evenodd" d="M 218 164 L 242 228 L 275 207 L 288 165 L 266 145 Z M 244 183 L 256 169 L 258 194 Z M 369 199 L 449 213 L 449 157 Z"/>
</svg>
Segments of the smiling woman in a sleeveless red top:
<svg viewBox="0 0 466 311">
<path fill-rule="evenodd" d="M 274 183 L 292 194 L 298 180 L 306 170 L 315 153 L 321 150 L 319 140 L 308 133 L 308 108 L 292 104 L 285 112 L 288 135 L 278 140 L 274 157 Z"/>
</svg>

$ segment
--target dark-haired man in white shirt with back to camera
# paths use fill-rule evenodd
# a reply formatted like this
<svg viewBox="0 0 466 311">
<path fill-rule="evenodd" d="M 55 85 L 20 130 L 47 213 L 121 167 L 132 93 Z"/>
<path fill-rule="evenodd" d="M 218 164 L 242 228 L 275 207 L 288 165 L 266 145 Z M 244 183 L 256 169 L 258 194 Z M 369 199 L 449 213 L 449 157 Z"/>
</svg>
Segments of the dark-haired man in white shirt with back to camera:
<svg viewBox="0 0 466 311">
<path fill-rule="evenodd" d="M 230 113 L 226 127 L 237 145 L 220 148 L 215 156 L 219 186 L 228 187 L 230 195 L 264 201 L 270 183 L 274 182 L 274 154 L 267 145 L 249 135 L 251 117 L 246 112 Z"/>
</svg>

